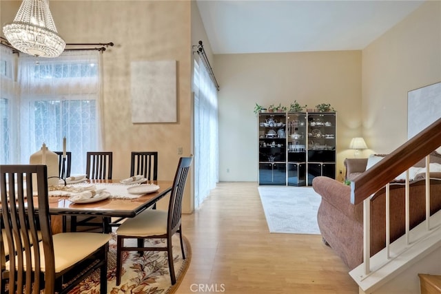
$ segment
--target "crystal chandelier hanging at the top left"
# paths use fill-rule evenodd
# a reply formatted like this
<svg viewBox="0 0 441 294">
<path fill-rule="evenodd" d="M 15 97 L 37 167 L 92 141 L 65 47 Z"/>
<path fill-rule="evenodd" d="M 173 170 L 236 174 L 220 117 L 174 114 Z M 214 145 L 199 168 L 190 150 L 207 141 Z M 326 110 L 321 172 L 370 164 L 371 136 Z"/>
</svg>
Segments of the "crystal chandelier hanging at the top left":
<svg viewBox="0 0 441 294">
<path fill-rule="evenodd" d="M 17 50 L 41 57 L 57 57 L 64 48 L 49 10 L 49 0 L 23 0 L 12 23 L 3 26 L 8 42 Z"/>
</svg>

